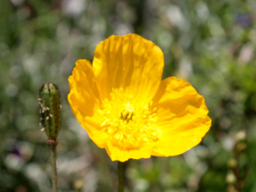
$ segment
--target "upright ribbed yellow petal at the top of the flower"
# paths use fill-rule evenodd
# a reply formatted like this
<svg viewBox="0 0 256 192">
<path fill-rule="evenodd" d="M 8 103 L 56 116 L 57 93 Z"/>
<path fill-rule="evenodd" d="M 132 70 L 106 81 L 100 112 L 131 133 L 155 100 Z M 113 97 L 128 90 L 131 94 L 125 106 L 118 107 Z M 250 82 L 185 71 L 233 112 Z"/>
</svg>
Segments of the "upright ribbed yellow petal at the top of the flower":
<svg viewBox="0 0 256 192">
<path fill-rule="evenodd" d="M 139 35 L 112 35 L 97 46 L 93 69 L 101 98 L 123 88 L 138 101 L 150 101 L 161 83 L 163 52 Z"/>
</svg>

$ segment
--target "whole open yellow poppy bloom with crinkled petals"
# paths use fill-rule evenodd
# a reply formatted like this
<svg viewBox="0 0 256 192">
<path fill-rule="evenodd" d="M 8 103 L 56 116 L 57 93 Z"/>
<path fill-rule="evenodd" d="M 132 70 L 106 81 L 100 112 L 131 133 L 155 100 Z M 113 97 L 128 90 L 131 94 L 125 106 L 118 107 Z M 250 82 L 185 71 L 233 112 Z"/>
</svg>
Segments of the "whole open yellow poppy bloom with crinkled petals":
<svg viewBox="0 0 256 192">
<path fill-rule="evenodd" d="M 185 80 L 161 81 L 163 52 L 139 35 L 112 35 L 91 62 L 68 78 L 78 122 L 112 161 L 179 155 L 196 146 L 211 119 L 202 95 Z"/>
</svg>

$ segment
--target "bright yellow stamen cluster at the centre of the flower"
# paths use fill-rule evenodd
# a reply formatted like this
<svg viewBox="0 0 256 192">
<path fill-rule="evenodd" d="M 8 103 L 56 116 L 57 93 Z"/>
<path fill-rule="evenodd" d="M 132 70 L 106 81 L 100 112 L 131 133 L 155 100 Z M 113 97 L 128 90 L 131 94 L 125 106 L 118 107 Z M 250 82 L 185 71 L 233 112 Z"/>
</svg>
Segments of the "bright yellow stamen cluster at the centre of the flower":
<svg viewBox="0 0 256 192">
<path fill-rule="evenodd" d="M 114 89 L 100 110 L 104 117 L 102 131 L 110 134 L 111 145 L 121 150 L 140 149 L 159 140 L 155 110 L 151 103 L 136 101 L 133 94 Z"/>
</svg>

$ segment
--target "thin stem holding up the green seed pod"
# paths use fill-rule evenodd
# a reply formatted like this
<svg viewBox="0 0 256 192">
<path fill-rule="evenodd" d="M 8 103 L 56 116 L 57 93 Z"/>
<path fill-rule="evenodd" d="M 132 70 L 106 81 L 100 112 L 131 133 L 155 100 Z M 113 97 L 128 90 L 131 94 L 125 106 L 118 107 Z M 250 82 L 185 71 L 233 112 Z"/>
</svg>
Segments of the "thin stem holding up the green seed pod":
<svg viewBox="0 0 256 192">
<path fill-rule="evenodd" d="M 58 177 L 57 177 L 57 167 L 56 167 L 56 159 L 57 159 L 57 141 L 56 139 L 48 139 L 47 144 L 50 148 L 50 157 L 51 157 L 51 169 L 52 169 L 52 191 L 58 192 Z"/>
</svg>

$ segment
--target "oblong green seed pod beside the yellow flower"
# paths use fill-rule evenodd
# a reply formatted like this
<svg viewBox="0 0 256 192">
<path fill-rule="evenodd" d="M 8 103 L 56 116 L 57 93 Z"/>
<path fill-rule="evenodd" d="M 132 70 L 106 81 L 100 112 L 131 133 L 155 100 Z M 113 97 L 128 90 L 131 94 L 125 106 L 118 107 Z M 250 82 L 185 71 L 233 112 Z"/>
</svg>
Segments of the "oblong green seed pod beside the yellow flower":
<svg viewBox="0 0 256 192">
<path fill-rule="evenodd" d="M 48 138 L 55 140 L 60 130 L 61 106 L 58 87 L 46 82 L 41 86 L 39 96 L 42 130 L 45 130 Z"/>
</svg>

